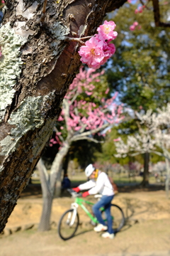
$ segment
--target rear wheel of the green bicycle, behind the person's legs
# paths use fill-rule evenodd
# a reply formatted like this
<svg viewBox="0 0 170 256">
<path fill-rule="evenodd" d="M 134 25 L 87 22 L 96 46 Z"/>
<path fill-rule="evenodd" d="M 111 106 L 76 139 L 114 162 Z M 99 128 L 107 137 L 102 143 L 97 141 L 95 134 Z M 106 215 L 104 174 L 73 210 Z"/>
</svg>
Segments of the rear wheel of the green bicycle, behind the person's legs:
<svg viewBox="0 0 170 256">
<path fill-rule="evenodd" d="M 113 230 L 114 233 L 118 233 L 123 225 L 125 224 L 125 215 L 123 210 L 116 206 L 115 204 L 111 205 L 111 215 L 113 216 Z"/>
</svg>

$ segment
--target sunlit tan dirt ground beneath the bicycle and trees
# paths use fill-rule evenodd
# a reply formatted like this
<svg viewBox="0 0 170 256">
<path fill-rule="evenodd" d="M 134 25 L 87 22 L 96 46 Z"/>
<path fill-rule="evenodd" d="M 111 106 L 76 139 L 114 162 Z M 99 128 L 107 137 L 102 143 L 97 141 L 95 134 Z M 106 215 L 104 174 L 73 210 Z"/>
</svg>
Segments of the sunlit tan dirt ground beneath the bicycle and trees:
<svg viewBox="0 0 170 256">
<path fill-rule="evenodd" d="M 0 256 L 170 255 L 170 200 L 166 199 L 164 191 L 119 193 L 115 196 L 113 201 L 123 208 L 127 221 L 113 240 L 103 239 L 101 234 L 95 233 L 81 209 L 80 220 L 85 224 L 78 228 L 74 238 L 61 240 L 57 235 L 57 223 L 73 201 L 68 197 L 54 200 L 53 229 L 48 232 L 31 229 L 1 236 Z M 6 228 L 38 223 L 41 210 L 41 196 L 38 198 L 36 193 L 21 196 Z"/>
</svg>

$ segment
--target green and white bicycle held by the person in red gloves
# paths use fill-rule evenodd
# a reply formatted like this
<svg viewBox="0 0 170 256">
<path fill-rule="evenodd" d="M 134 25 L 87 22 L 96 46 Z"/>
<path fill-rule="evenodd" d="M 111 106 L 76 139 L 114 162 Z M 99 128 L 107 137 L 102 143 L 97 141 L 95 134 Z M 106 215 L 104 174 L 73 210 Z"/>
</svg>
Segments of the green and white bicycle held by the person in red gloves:
<svg viewBox="0 0 170 256">
<path fill-rule="evenodd" d="M 84 203 L 88 204 L 89 206 L 93 206 L 94 203 L 90 201 L 86 201 L 83 198 L 79 198 L 81 196 L 80 193 L 73 191 L 72 189 L 68 189 L 69 193 L 71 193 L 72 197 L 75 198 L 74 203 L 71 204 L 71 208 L 66 210 L 62 217 L 60 218 L 59 225 L 58 225 L 58 234 L 62 240 L 68 240 L 73 238 L 77 228 L 79 226 L 79 214 L 77 212 L 79 206 L 85 211 L 85 213 L 91 219 L 92 225 L 98 224 L 98 220 L 94 215 L 92 215 L 89 210 L 84 206 Z M 101 198 L 101 195 L 95 195 L 95 198 Z M 101 208 L 102 215 L 104 214 L 105 209 Z M 111 205 L 111 215 L 113 216 L 113 230 L 114 233 L 118 233 L 123 225 L 125 224 L 125 216 L 123 210 L 115 205 Z M 103 216 L 103 220 L 106 221 L 105 216 Z"/>
</svg>

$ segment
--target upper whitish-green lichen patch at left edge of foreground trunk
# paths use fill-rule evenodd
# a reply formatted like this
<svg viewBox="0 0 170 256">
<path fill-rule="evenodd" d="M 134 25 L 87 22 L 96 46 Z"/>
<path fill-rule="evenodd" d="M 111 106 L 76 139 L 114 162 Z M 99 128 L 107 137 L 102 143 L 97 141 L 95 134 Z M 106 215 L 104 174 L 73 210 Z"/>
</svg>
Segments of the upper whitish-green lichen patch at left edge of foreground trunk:
<svg viewBox="0 0 170 256">
<path fill-rule="evenodd" d="M 20 48 L 26 43 L 26 38 L 16 35 L 9 23 L 0 28 L 0 113 L 11 104 L 15 90 L 16 78 L 21 74 L 23 62 L 20 58 Z M 1 116 L 1 119 L 3 117 Z M 0 119 L 0 120 L 1 120 Z"/>
</svg>

